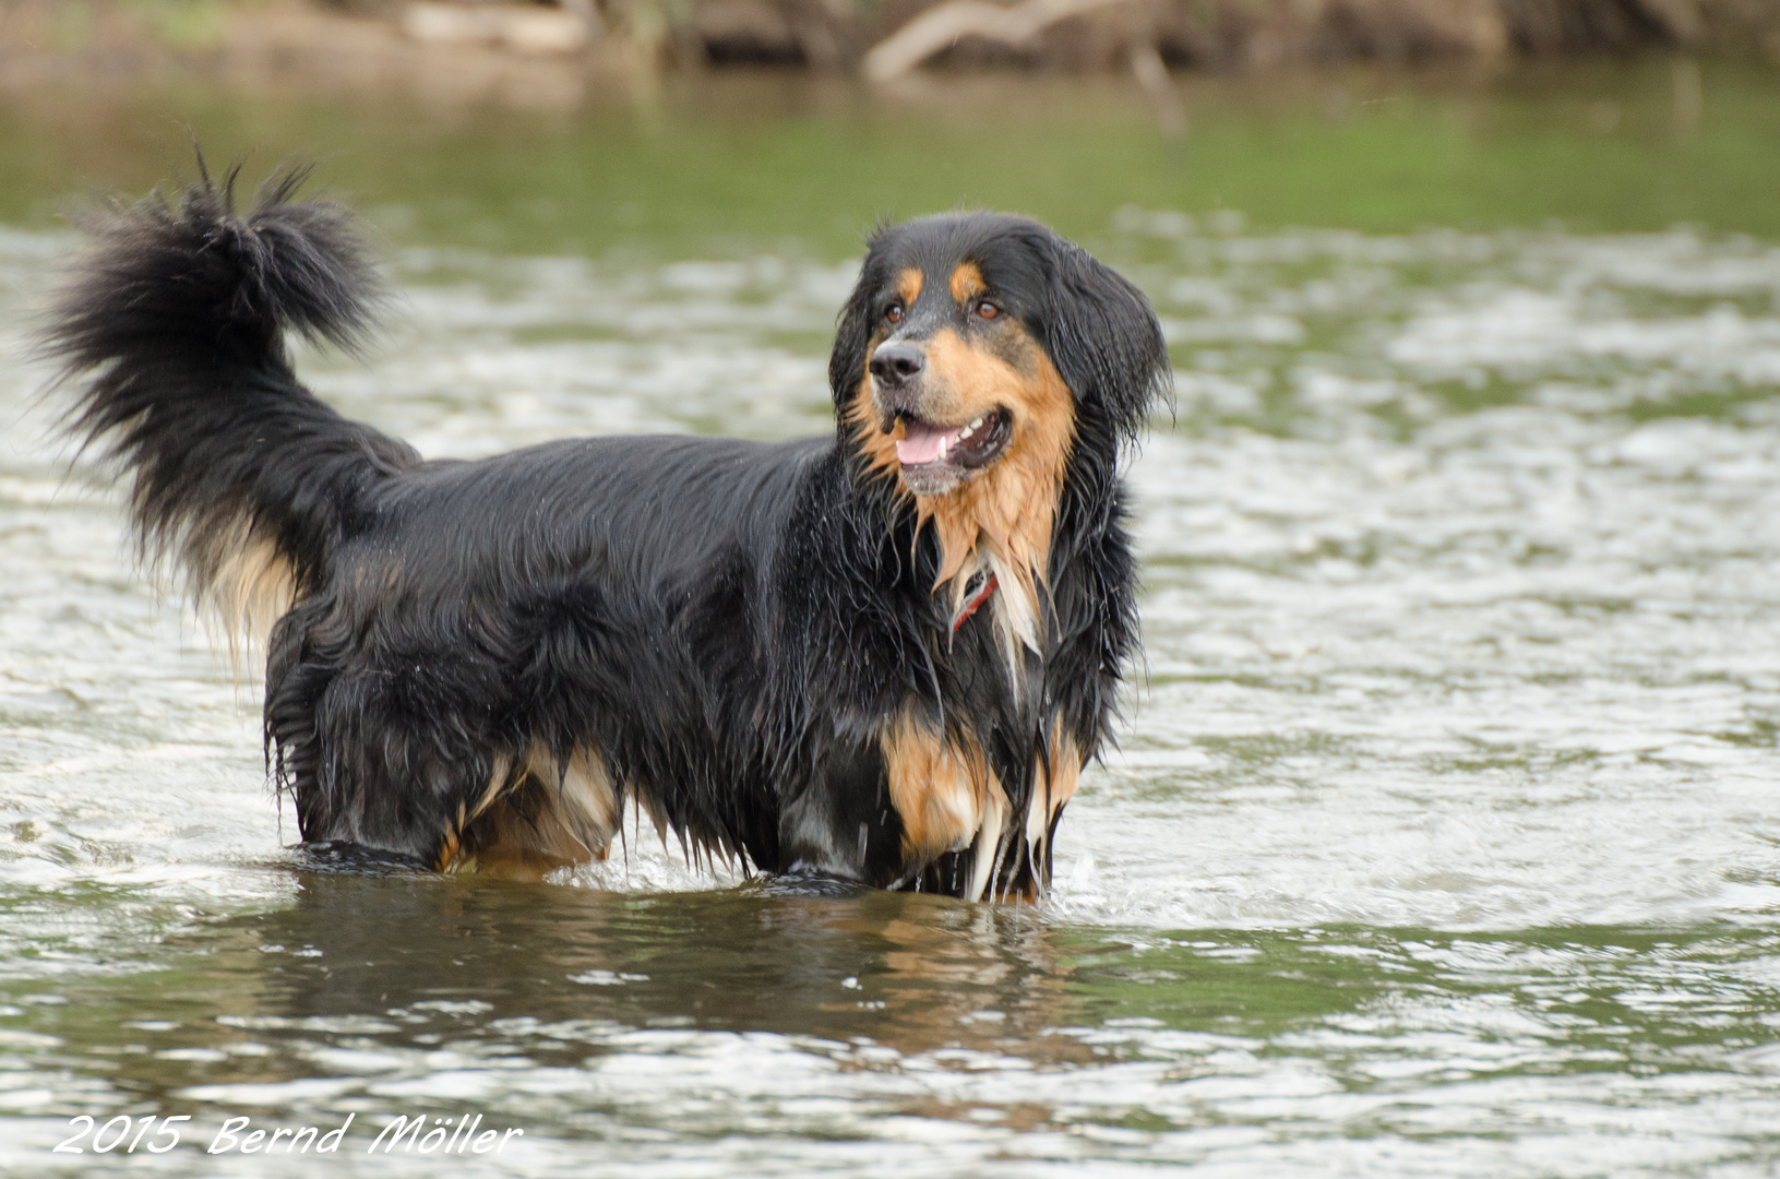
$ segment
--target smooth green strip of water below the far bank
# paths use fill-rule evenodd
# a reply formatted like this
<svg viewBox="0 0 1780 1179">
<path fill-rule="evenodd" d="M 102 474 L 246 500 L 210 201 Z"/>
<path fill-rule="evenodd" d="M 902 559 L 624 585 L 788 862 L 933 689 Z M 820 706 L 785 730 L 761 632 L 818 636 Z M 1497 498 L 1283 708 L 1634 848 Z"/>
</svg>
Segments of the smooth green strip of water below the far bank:
<svg viewBox="0 0 1780 1179">
<path fill-rule="evenodd" d="M 1687 69 L 1187 78 L 1180 139 L 1118 80 L 942 78 L 886 96 L 717 75 L 573 116 L 53 93 L 0 105 L 0 215 L 43 223 L 78 180 L 142 191 L 185 173 L 192 132 L 219 160 L 324 159 L 331 185 L 402 210 L 399 237 L 527 253 L 701 256 L 794 239 L 844 256 L 878 217 L 959 203 L 1070 235 L 1100 232 L 1123 205 L 1367 232 L 1556 219 L 1780 235 L 1775 71 Z M 1689 77 L 1698 116 L 1677 102 Z"/>
</svg>

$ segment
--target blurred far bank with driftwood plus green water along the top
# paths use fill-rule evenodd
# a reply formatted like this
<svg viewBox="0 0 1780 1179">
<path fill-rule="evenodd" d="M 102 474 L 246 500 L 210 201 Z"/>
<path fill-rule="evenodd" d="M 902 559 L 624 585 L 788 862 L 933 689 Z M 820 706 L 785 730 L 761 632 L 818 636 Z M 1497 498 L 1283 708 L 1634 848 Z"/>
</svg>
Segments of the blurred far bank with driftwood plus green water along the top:
<svg viewBox="0 0 1780 1179">
<path fill-rule="evenodd" d="M 4 0 L 0 215 L 198 135 L 527 251 L 958 203 L 1771 232 L 1776 61 L 1771 0 Z"/>
</svg>

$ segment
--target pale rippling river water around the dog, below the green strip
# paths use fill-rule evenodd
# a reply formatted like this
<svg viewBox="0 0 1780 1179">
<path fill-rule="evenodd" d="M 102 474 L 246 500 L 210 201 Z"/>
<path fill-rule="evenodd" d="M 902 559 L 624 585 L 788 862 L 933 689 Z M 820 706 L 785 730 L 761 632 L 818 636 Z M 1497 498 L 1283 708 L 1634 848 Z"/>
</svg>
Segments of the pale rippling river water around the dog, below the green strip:
<svg viewBox="0 0 1780 1179">
<path fill-rule="evenodd" d="M 819 230 L 529 256 L 379 208 L 406 305 L 303 367 L 427 454 L 826 427 Z M 295 871 L 251 661 L 32 401 L 69 239 L 0 232 L 0 1170 L 190 1115 L 130 1167 L 1773 1174 L 1780 249 L 1073 232 L 1155 299 L 1178 406 L 1132 468 L 1143 684 L 1036 908 L 787 898 L 637 832 L 546 885 Z M 365 1152 L 477 1113 L 525 1134 Z M 203 1152 L 347 1115 L 326 1161 Z"/>
</svg>

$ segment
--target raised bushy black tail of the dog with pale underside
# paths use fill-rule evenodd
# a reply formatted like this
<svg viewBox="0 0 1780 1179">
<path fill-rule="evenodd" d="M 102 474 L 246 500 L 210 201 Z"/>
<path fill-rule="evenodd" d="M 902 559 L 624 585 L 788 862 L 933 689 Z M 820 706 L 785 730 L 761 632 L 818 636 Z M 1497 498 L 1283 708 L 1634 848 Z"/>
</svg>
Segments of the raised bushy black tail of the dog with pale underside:
<svg viewBox="0 0 1780 1179">
<path fill-rule="evenodd" d="M 287 331 L 354 349 L 383 287 L 351 215 L 274 175 L 235 212 L 233 173 L 82 217 L 43 349 L 77 390 L 66 424 L 128 479 L 141 556 L 237 636 L 328 565 L 384 477 L 418 456 L 303 388 Z"/>
</svg>

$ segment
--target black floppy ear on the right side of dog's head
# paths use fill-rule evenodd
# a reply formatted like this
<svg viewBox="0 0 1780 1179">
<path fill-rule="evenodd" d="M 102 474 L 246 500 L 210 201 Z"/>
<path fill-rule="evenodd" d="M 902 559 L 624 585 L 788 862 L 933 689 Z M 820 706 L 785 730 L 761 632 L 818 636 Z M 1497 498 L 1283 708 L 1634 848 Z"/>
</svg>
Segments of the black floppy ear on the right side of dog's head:
<svg viewBox="0 0 1780 1179">
<path fill-rule="evenodd" d="M 1134 438 L 1150 402 L 1168 395 L 1168 346 L 1150 301 L 1121 274 L 1061 237 L 1050 239 L 1045 347 L 1077 401 Z"/>
</svg>

